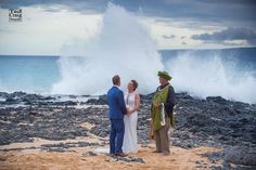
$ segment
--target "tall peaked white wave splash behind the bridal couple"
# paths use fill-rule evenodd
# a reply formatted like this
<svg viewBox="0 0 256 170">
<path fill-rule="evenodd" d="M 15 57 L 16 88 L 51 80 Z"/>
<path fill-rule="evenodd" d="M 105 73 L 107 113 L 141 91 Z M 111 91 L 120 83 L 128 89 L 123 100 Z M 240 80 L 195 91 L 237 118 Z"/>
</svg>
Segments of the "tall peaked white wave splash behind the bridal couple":
<svg viewBox="0 0 256 170">
<path fill-rule="evenodd" d="M 123 89 L 131 79 L 139 91 L 149 93 L 158 84 L 164 68 L 149 31 L 125 9 L 108 4 L 101 31 L 90 40 L 66 45 L 60 57 L 61 81 L 52 93 L 102 94 L 112 87 L 112 77 L 121 77 Z"/>
</svg>

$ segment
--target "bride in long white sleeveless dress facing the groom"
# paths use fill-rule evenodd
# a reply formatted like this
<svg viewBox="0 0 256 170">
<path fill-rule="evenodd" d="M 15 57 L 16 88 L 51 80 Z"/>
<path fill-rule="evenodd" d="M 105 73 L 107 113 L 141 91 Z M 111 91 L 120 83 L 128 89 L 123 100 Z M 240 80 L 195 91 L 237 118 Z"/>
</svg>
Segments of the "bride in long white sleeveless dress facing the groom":
<svg viewBox="0 0 256 170">
<path fill-rule="evenodd" d="M 125 136 L 124 136 L 124 153 L 138 153 L 138 136 L 137 136 L 137 121 L 138 109 L 140 107 L 140 95 L 136 91 L 138 82 L 130 80 L 127 86 L 127 92 L 125 94 L 125 103 L 127 108 L 127 115 L 125 115 Z"/>
</svg>

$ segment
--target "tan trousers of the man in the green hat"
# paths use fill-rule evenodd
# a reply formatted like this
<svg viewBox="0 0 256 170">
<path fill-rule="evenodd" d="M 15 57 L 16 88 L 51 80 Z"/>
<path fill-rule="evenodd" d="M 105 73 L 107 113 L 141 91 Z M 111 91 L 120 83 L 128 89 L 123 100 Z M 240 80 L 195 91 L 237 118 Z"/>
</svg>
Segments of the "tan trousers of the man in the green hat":
<svg viewBox="0 0 256 170">
<path fill-rule="evenodd" d="M 154 131 L 154 139 L 156 145 L 156 152 L 161 153 L 169 153 L 170 143 L 169 143 L 169 135 L 168 130 L 170 128 L 170 119 L 169 117 L 165 117 L 165 126 L 162 127 L 159 130 Z"/>
</svg>

